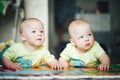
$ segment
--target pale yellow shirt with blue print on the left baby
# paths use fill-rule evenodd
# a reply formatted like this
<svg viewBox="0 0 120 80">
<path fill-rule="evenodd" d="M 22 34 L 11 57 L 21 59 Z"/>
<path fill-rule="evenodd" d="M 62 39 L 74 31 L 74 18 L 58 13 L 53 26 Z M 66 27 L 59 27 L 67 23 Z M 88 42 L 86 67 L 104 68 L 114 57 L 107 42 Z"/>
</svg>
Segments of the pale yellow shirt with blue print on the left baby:
<svg viewBox="0 0 120 80">
<path fill-rule="evenodd" d="M 54 56 L 50 54 L 45 46 L 40 46 L 36 51 L 27 51 L 22 43 L 15 43 L 3 54 L 4 57 L 13 62 L 18 62 L 22 67 L 37 67 L 43 61 L 49 63 Z"/>
</svg>

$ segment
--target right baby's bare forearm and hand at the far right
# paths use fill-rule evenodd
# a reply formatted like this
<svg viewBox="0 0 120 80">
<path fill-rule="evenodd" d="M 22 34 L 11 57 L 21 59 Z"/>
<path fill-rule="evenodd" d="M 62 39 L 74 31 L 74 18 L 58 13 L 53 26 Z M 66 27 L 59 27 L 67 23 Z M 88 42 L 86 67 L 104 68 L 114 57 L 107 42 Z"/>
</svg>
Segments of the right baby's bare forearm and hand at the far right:
<svg viewBox="0 0 120 80">
<path fill-rule="evenodd" d="M 104 53 L 100 56 L 99 59 L 100 59 L 101 64 L 98 66 L 98 69 L 99 70 L 109 70 L 109 65 L 110 65 L 109 56 Z"/>
</svg>

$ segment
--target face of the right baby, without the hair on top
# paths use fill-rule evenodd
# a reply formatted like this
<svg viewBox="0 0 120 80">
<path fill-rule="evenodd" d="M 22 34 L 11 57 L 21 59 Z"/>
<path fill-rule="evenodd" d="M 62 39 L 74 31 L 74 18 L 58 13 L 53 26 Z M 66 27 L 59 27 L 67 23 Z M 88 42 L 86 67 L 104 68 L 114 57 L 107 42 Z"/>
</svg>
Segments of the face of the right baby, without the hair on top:
<svg viewBox="0 0 120 80">
<path fill-rule="evenodd" d="M 71 34 L 75 46 L 81 52 L 86 52 L 94 44 L 94 36 L 88 24 L 75 25 Z"/>
</svg>

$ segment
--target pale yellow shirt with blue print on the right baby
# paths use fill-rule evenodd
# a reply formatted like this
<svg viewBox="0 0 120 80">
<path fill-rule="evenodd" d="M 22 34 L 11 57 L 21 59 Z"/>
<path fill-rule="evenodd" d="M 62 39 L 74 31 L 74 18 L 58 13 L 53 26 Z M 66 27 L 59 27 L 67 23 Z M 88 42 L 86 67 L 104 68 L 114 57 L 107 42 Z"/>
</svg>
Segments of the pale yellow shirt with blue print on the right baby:
<svg viewBox="0 0 120 80">
<path fill-rule="evenodd" d="M 68 43 L 60 56 L 70 61 L 71 66 L 96 67 L 98 66 L 99 57 L 103 53 L 105 51 L 95 41 L 93 47 L 86 53 L 80 53 L 74 45 Z"/>
</svg>

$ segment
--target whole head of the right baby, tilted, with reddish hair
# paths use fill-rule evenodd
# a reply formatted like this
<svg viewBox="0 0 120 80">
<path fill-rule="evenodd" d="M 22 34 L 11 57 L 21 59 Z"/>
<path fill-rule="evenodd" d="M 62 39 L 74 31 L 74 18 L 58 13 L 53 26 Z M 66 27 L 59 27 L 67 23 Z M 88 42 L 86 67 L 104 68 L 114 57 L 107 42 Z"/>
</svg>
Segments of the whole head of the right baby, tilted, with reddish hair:
<svg viewBox="0 0 120 80">
<path fill-rule="evenodd" d="M 74 20 L 69 25 L 70 42 L 73 43 L 78 50 L 86 52 L 94 44 L 94 36 L 90 25 L 84 20 Z"/>
</svg>

